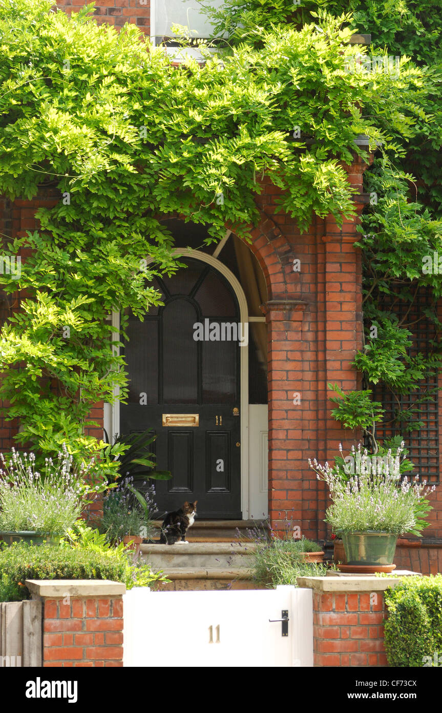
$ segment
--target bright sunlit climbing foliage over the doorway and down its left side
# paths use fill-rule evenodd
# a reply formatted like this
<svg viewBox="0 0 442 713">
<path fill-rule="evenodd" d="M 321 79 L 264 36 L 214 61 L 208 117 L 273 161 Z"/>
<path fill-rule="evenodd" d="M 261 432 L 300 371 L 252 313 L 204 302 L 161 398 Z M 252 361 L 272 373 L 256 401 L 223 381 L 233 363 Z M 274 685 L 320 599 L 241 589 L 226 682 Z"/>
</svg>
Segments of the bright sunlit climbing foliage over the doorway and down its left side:
<svg viewBox="0 0 442 713">
<path fill-rule="evenodd" d="M 441 145 L 433 102 L 440 96 L 440 10 L 422 0 L 419 9 L 431 9 L 427 21 L 411 0 L 226 0 L 213 14 L 215 34 L 231 34 L 222 61 L 174 68 L 135 26 L 117 34 L 95 24 L 91 7 L 72 17 L 51 8 L 50 0 L 0 0 L 0 191 L 34 198 L 45 187 L 54 198 L 53 207 L 38 210 L 38 230 L 4 250 L 26 250 L 20 276 L 0 275 L 6 292 L 26 290 L 26 298 L 2 330 L 0 396 L 11 403 L 8 417 L 20 419 L 19 443 L 49 454 L 66 442 L 77 463 L 95 456 L 96 476 L 112 479 L 124 448 L 85 435 L 88 414 L 98 401 L 112 403 L 117 389 L 127 396 L 116 352 L 127 317 L 117 333 L 110 312 L 142 318 L 161 301 L 152 277 L 179 266 L 158 216 L 177 212 L 206 225 L 209 240 L 226 223 L 248 237 L 267 175 L 283 188 L 280 207 L 301 229 L 313 214 L 339 222 L 354 215 L 340 162 L 350 163 L 354 152 L 365 156 L 357 134 L 382 143 L 382 172 L 392 160 L 407 160 L 407 142 L 424 144 L 417 163 L 433 209 L 440 189 L 428 150 Z M 367 53 L 348 44 L 361 28 L 374 34 L 370 51 L 382 54 L 389 45 L 401 54 L 398 77 L 346 71 L 357 53 Z M 391 177 L 396 197 L 391 187 L 380 190 L 379 212 L 367 219 L 377 224 L 375 240 L 386 242 L 380 252 L 391 252 L 401 230 L 405 241 L 428 235 L 438 245 L 426 209 L 407 207 L 410 175 L 399 167 Z M 367 367 L 365 356 L 359 368 Z M 397 380 L 414 383 L 424 366 L 419 357 L 404 361 Z M 379 352 L 377 376 L 386 371 Z"/>
</svg>

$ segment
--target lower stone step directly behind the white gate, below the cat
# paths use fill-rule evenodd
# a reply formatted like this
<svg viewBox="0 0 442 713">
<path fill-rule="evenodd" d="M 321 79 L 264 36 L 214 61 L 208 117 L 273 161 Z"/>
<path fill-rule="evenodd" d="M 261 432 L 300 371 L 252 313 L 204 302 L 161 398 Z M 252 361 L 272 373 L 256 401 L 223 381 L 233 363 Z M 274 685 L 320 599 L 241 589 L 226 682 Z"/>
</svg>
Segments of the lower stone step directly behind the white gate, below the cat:
<svg viewBox="0 0 442 713">
<path fill-rule="evenodd" d="M 171 545 L 172 546 L 172 545 Z M 263 589 L 251 579 L 246 567 L 228 568 L 164 568 L 164 576 L 170 582 L 157 583 L 155 589 L 162 592 L 200 590 Z"/>
</svg>

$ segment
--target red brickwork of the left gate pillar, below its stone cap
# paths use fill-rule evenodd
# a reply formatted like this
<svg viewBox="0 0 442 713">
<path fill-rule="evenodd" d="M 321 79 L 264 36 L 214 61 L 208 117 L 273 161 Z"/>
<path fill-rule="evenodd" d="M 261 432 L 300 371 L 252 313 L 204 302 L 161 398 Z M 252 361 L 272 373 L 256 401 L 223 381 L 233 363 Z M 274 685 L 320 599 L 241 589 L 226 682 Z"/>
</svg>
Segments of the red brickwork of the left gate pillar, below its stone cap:
<svg viewBox="0 0 442 713">
<path fill-rule="evenodd" d="M 122 597 L 47 599 L 43 666 L 122 666 Z"/>
</svg>

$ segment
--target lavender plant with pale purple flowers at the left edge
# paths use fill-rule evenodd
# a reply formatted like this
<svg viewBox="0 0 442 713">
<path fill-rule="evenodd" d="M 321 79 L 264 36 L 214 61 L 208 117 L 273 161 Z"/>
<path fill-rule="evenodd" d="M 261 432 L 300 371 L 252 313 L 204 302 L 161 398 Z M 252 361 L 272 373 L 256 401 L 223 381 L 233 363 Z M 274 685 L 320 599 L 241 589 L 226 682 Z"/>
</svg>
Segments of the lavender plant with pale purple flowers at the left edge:
<svg viewBox="0 0 442 713">
<path fill-rule="evenodd" d="M 84 482 L 72 473 L 72 456 L 63 444 L 54 463 L 46 458 L 44 473 L 36 470 L 36 456 L 12 448 L 6 463 L 0 453 L 0 530 L 32 531 L 44 535 L 64 535 L 85 506 L 81 497 Z"/>
</svg>

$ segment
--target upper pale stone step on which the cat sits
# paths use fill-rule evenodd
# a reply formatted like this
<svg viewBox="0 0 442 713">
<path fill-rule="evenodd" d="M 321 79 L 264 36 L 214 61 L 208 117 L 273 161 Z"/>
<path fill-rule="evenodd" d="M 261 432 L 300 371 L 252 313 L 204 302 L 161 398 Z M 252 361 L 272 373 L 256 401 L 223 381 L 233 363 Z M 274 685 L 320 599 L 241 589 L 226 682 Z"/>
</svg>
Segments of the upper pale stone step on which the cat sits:
<svg viewBox="0 0 442 713">
<path fill-rule="evenodd" d="M 155 571 L 183 568 L 205 570 L 247 568 L 256 545 L 253 543 L 190 542 L 185 545 L 140 545 L 145 562 Z"/>
</svg>

